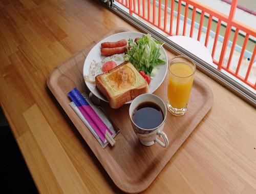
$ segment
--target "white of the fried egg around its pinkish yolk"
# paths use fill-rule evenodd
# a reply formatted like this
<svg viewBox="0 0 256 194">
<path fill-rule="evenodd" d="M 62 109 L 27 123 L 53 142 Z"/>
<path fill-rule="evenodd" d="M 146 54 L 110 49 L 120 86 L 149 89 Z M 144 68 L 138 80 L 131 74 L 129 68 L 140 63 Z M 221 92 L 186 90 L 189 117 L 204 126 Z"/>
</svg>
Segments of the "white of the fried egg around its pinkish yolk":
<svg viewBox="0 0 256 194">
<path fill-rule="evenodd" d="M 84 76 L 84 80 L 91 83 L 95 83 L 95 77 L 99 74 L 104 73 L 102 71 L 102 68 L 104 64 L 108 61 L 113 61 L 117 65 L 119 65 L 124 61 L 124 54 L 115 54 L 109 57 L 105 57 L 103 60 L 99 62 L 96 62 L 95 60 L 93 60 L 90 64 L 88 75 Z"/>
</svg>

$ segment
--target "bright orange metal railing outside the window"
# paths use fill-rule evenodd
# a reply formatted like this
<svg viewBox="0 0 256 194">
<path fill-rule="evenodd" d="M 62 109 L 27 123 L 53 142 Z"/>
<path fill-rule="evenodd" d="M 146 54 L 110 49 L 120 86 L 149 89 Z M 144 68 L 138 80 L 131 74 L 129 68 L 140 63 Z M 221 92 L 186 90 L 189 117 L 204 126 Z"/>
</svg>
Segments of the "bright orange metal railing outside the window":
<svg viewBox="0 0 256 194">
<path fill-rule="evenodd" d="M 178 0 L 178 8 L 177 8 L 177 16 L 176 16 L 177 17 L 176 32 L 173 32 L 175 0 L 170 0 L 170 1 L 165 0 L 164 4 L 162 4 L 161 0 L 158 0 L 158 2 L 156 0 L 147 0 L 147 1 L 145 1 L 145 0 L 125 0 L 125 1 L 124 0 L 116 0 L 116 1 L 118 3 L 120 3 L 122 6 L 124 6 L 125 8 L 129 9 L 129 13 L 131 15 L 133 15 L 133 14 L 138 15 L 139 17 L 146 20 L 149 24 L 157 27 L 158 29 L 162 30 L 164 33 L 166 33 L 170 36 L 179 34 L 182 2 L 185 3 L 182 35 L 185 35 L 185 31 L 186 31 L 186 24 L 187 24 L 187 19 L 188 19 L 188 9 L 193 9 L 193 12 L 192 12 L 192 15 L 190 18 L 191 19 L 191 27 L 190 27 L 190 33 L 189 33 L 190 37 L 193 37 L 193 33 L 194 33 L 196 12 L 197 12 L 197 10 L 201 10 L 200 11 L 201 18 L 200 18 L 200 22 L 199 22 L 199 28 L 198 28 L 199 31 L 198 31 L 197 39 L 198 40 L 201 39 L 203 20 L 204 20 L 205 14 L 207 14 L 207 17 L 209 19 L 208 19 L 208 25 L 207 25 L 207 30 L 206 30 L 206 37 L 204 40 L 205 47 L 208 47 L 208 39 L 209 39 L 211 24 L 212 24 L 211 21 L 213 18 L 215 18 L 215 20 L 218 20 L 218 23 L 217 23 L 217 28 L 215 31 L 214 44 L 212 46 L 212 51 L 211 51 L 212 58 L 214 58 L 214 56 L 215 56 L 215 51 L 216 51 L 216 46 L 217 46 L 217 41 L 218 41 L 218 37 L 219 37 L 221 24 L 222 24 L 222 22 L 226 23 L 226 31 L 225 31 L 225 35 L 224 35 L 224 39 L 223 39 L 220 58 L 219 58 L 219 60 L 214 59 L 213 61 L 217 65 L 217 68 L 219 70 L 225 70 L 229 74 L 233 75 L 234 77 L 238 78 L 239 80 L 243 81 L 244 83 L 249 85 L 251 88 L 256 90 L 256 82 L 251 83 L 250 81 L 248 81 L 248 77 L 250 75 L 250 71 L 251 71 L 252 64 L 253 64 L 255 54 L 256 54 L 256 45 L 254 46 L 245 77 L 242 77 L 241 75 L 239 75 L 241 62 L 242 62 L 242 59 L 244 56 L 244 52 L 245 52 L 245 48 L 246 48 L 249 36 L 256 37 L 256 31 L 254 29 L 246 26 L 245 24 L 241 24 L 238 21 L 233 19 L 234 13 L 237 8 L 238 0 L 232 1 L 228 16 L 217 11 L 217 10 L 214 10 L 210 7 L 207 7 L 199 2 L 194 2 L 193 0 L 183 0 L 183 1 Z M 153 9 L 151 9 L 151 6 L 153 6 Z M 168 6 L 170 8 L 168 8 Z M 146 9 L 146 7 L 147 7 L 147 9 Z M 167 9 L 170 9 L 170 13 L 167 12 Z M 156 18 L 156 10 L 158 10 L 158 17 L 157 17 L 158 19 Z M 164 10 L 163 24 L 161 24 L 162 10 Z M 167 29 L 167 17 L 170 18 L 170 23 L 169 23 L 168 29 Z M 224 61 L 224 57 L 226 54 L 226 49 L 228 47 L 230 32 L 233 29 L 236 29 L 236 30 L 234 32 L 234 36 L 232 39 L 232 46 L 231 46 L 228 62 L 227 62 L 227 64 L 224 65 L 223 61 Z M 244 38 L 244 43 L 243 43 L 242 50 L 240 53 L 240 58 L 239 58 L 239 61 L 238 61 L 237 67 L 236 67 L 236 71 L 232 71 L 230 69 L 230 63 L 231 63 L 231 59 L 233 56 L 234 48 L 236 47 L 237 37 L 240 34 L 239 33 L 240 30 L 245 33 L 245 38 Z"/>
</svg>

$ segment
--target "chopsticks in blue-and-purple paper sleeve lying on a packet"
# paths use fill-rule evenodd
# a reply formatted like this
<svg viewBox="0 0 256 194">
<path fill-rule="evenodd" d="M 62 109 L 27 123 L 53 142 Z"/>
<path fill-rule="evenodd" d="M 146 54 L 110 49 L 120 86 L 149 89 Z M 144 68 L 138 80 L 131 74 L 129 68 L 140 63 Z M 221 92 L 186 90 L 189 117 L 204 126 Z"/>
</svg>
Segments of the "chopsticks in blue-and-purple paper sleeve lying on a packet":
<svg viewBox="0 0 256 194">
<path fill-rule="evenodd" d="M 80 94 L 80 92 L 74 88 L 69 92 L 68 95 L 72 100 L 72 102 L 69 103 L 72 109 L 76 112 L 83 123 L 89 128 L 100 145 L 104 148 L 106 145 L 108 145 L 109 142 L 105 139 L 104 134 L 98 130 L 98 127 L 101 127 L 101 130 L 103 129 L 103 131 L 108 131 L 114 138 L 116 136 L 116 131 L 114 130 L 111 122 L 108 120 L 108 118 L 106 118 L 105 114 L 99 109 L 99 107 L 95 106 L 91 102 L 85 93 Z M 95 111 L 97 114 L 96 118 L 91 118 L 88 116 L 87 113 L 91 113 L 92 111 Z M 90 114 L 90 116 L 91 115 L 92 114 Z"/>
</svg>

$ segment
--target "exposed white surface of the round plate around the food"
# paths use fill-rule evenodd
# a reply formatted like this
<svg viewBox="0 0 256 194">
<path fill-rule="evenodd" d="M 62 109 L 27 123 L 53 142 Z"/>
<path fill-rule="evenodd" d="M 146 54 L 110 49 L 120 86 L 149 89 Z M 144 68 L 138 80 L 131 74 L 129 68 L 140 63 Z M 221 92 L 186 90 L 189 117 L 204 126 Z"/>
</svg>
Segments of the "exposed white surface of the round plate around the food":
<svg viewBox="0 0 256 194">
<path fill-rule="evenodd" d="M 89 52 L 89 54 L 86 57 L 86 60 L 84 61 L 83 64 L 83 76 L 88 75 L 89 73 L 89 68 L 90 68 L 90 64 L 93 60 L 95 60 L 96 62 L 101 61 L 103 58 L 105 58 L 105 56 L 101 56 L 100 54 L 100 48 L 101 48 L 101 42 L 115 42 L 121 39 L 129 39 L 129 37 L 133 38 L 133 40 L 136 37 L 141 37 L 143 33 L 140 32 L 121 32 L 121 33 L 117 33 L 117 34 L 113 34 L 109 37 L 106 37 L 105 39 L 101 40 L 100 42 L 98 42 L 98 44 L 96 44 L 92 50 Z M 163 82 L 165 75 L 167 73 L 167 68 L 168 68 L 168 59 L 167 59 L 167 54 L 164 50 L 164 48 L 162 47 L 161 50 L 161 57 L 166 61 L 165 64 L 160 64 L 158 66 L 159 71 L 158 74 L 151 79 L 151 83 L 149 85 L 149 92 L 148 93 L 153 93 L 155 92 L 158 87 L 161 85 L 161 83 Z M 89 88 L 89 90 L 98 98 L 100 98 L 101 100 L 108 102 L 108 100 L 105 98 L 105 96 L 103 96 L 100 91 L 96 88 L 96 85 L 94 83 L 90 83 L 88 81 L 86 81 L 86 85 Z M 131 103 L 131 101 L 126 102 L 126 103 Z"/>
</svg>

